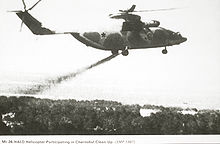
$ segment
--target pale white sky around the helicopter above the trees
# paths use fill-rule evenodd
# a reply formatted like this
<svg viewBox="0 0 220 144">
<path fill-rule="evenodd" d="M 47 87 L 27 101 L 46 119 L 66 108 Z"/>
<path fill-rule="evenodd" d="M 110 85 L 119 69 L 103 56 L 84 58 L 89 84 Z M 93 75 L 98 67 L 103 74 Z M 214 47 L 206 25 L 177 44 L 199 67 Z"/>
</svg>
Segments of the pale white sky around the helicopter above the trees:
<svg viewBox="0 0 220 144">
<path fill-rule="evenodd" d="M 159 20 L 187 41 L 168 47 L 167 55 L 162 48 L 130 50 L 127 57 L 118 56 L 37 97 L 220 109 L 220 0 L 42 0 L 30 13 L 58 32 L 118 30 L 122 21 L 108 15 L 132 4 L 137 10 L 179 8 L 140 15 L 145 22 Z M 20 19 L 7 11 L 21 9 L 22 1 L 0 1 L 2 84 L 74 72 L 111 55 L 70 35 L 36 36 L 25 25 L 20 32 Z"/>
</svg>

